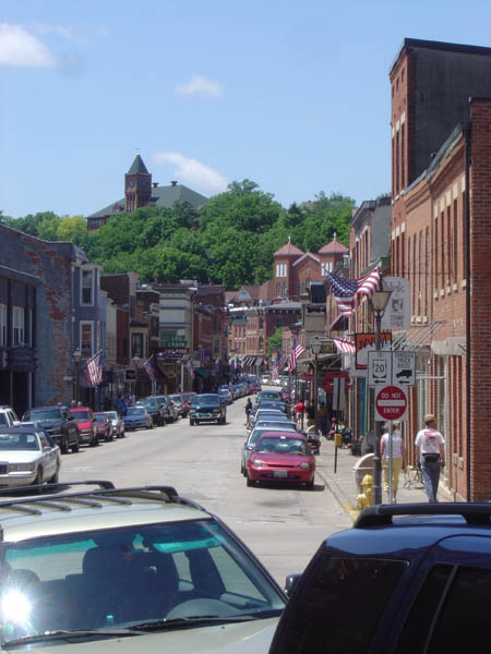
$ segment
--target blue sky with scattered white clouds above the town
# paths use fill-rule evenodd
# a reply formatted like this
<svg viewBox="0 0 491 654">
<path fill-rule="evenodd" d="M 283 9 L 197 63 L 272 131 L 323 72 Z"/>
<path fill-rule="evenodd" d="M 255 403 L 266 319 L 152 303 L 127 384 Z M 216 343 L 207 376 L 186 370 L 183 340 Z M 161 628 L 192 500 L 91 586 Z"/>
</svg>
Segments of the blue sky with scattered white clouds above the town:
<svg viewBox="0 0 491 654">
<path fill-rule="evenodd" d="M 284 206 L 390 189 L 405 37 L 491 46 L 489 0 L 1 0 L 0 209 L 89 215 L 153 181 Z"/>
</svg>

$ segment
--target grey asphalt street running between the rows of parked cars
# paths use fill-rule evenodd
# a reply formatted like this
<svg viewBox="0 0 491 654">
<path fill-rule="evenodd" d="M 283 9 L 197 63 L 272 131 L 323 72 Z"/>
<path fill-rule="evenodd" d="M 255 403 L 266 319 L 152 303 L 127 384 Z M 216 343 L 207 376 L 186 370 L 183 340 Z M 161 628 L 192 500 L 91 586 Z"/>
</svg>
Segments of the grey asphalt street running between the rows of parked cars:
<svg viewBox="0 0 491 654">
<path fill-rule="evenodd" d="M 347 511 L 325 486 L 322 453 L 315 489 L 247 487 L 240 474 L 246 399 L 228 407 L 227 424 L 175 424 L 130 432 L 62 457 L 60 481 L 104 479 L 118 486 L 171 485 L 224 520 L 284 584 L 301 572 L 323 538 L 347 529 Z"/>
</svg>

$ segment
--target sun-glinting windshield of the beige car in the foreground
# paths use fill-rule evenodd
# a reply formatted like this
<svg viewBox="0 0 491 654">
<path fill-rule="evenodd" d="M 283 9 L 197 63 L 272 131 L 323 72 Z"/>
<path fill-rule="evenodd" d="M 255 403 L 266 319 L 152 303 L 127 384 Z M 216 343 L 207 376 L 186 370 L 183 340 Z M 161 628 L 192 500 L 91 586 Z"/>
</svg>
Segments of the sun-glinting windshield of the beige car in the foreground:
<svg viewBox="0 0 491 654">
<path fill-rule="evenodd" d="M 1 642 L 200 616 L 279 616 L 284 600 L 213 520 L 2 543 Z M 5 645 L 4 645 L 5 646 Z"/>
</svg>

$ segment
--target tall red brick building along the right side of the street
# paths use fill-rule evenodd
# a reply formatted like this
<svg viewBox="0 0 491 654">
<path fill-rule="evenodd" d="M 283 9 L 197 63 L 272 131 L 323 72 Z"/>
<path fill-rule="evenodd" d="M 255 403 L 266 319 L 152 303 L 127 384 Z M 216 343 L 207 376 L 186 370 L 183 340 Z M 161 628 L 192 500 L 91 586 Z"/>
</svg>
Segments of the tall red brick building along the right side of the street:
<svg viewBox="0 0 491 654">
<path fill-rule="evenodd" d="M 419 343 L 406 437 L 435 413 L 446 485 L 489 500 L 491 49 L 405 39 L 390 80 L 392 274 L 410 280 L 403 346 Z"/>
</svg>

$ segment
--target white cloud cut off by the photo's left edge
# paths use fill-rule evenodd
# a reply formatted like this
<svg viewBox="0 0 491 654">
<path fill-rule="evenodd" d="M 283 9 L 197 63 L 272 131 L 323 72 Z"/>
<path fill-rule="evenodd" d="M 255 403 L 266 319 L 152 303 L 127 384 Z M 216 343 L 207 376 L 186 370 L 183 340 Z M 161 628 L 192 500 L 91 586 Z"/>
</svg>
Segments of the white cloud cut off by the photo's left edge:
<svg viewBox="0 0 491 654">
<path fill-rule="evenodd" d="M 21 25 L 0 23 L 0 65 L 56 65 L 48 48 Z"/>
</svg>

